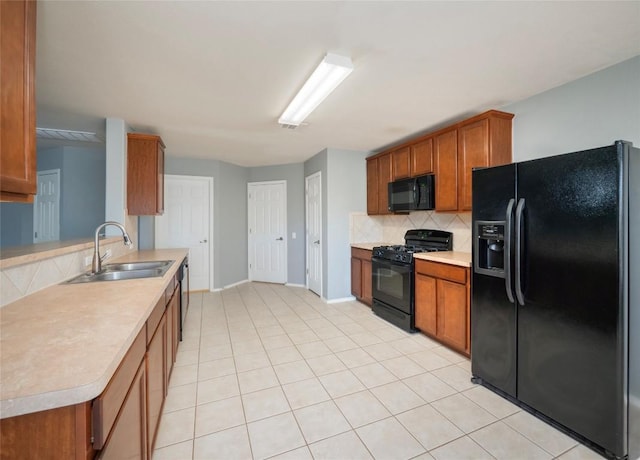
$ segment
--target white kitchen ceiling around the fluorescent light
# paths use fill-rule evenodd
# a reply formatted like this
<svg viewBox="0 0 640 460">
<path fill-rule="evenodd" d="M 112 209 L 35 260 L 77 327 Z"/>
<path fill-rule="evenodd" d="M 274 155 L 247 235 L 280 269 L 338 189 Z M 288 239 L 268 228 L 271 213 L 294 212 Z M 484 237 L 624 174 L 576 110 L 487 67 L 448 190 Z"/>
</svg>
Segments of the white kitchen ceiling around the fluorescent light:
<svg viewBox="0 0 640 460">
<path fill-rule="evenodd" d="M 281 128 L 328 51 L 353 73 Z M 38 126 L 117 117 L 167 155 L 286 164 L 381 150 L 638 54 L 638 1 L 40 1 Z"/>
</svg>

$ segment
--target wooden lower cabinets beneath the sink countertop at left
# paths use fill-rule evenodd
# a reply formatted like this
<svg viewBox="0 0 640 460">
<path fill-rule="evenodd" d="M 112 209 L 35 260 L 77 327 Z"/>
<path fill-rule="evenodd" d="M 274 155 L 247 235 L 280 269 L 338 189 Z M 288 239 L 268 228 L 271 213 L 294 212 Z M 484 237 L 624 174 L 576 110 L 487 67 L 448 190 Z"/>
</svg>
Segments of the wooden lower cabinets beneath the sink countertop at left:
<svg viewBox="0 0 640 460">
<path fill-rule="evenodd" d="M 180 295 L 174 279 L 93 401 L 1 419 L 0 459 L 149 459 L 180 340 Z"/>
</svg>

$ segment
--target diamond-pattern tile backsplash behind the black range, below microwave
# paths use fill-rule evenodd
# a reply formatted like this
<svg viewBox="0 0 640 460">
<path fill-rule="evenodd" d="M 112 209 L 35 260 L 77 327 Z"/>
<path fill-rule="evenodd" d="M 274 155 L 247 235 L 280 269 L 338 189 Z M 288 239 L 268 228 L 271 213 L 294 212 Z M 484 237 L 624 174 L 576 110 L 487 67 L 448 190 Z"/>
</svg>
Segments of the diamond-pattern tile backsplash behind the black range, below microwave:
<svg viewBox="0 0 640 460">
<path fill-rule="evenodd" d="M 412 228 L 446 230 L 453 233 L 453 250 L 471 252 L 471 213 L 418 211 L 410 214 L 369 216 L 366 212 L 349 215 L 351 243 L 404 244 L 404 234 Z"/>
</svg>

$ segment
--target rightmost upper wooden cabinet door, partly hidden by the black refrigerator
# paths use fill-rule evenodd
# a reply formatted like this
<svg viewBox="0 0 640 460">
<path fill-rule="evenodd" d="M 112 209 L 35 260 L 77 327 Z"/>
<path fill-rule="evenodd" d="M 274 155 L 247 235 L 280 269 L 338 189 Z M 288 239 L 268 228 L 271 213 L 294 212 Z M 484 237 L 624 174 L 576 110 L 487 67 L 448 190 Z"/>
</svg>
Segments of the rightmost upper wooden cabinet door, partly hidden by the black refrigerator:
<svg viewBox="0 0 640 460">
<path fill-rule="evenodd" d="M 471 211 L 471 170 L 489 166 L 489 120 L 458 129 L 458 209 Z"/>
</svg>

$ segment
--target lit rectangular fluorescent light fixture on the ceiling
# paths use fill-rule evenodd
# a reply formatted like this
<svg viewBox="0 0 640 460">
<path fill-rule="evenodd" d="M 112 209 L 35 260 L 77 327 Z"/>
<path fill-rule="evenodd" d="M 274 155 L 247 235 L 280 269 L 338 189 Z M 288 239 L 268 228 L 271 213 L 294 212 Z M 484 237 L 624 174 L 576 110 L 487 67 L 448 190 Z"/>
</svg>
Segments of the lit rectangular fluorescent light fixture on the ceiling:
<svg viewBox="0 0 640 460">
<path fill-rule="evenodd" d="M 281 125 L 298 126 L 353 70 L 351 59 L 327 53 L 282 116 Z"/>
</svg>

